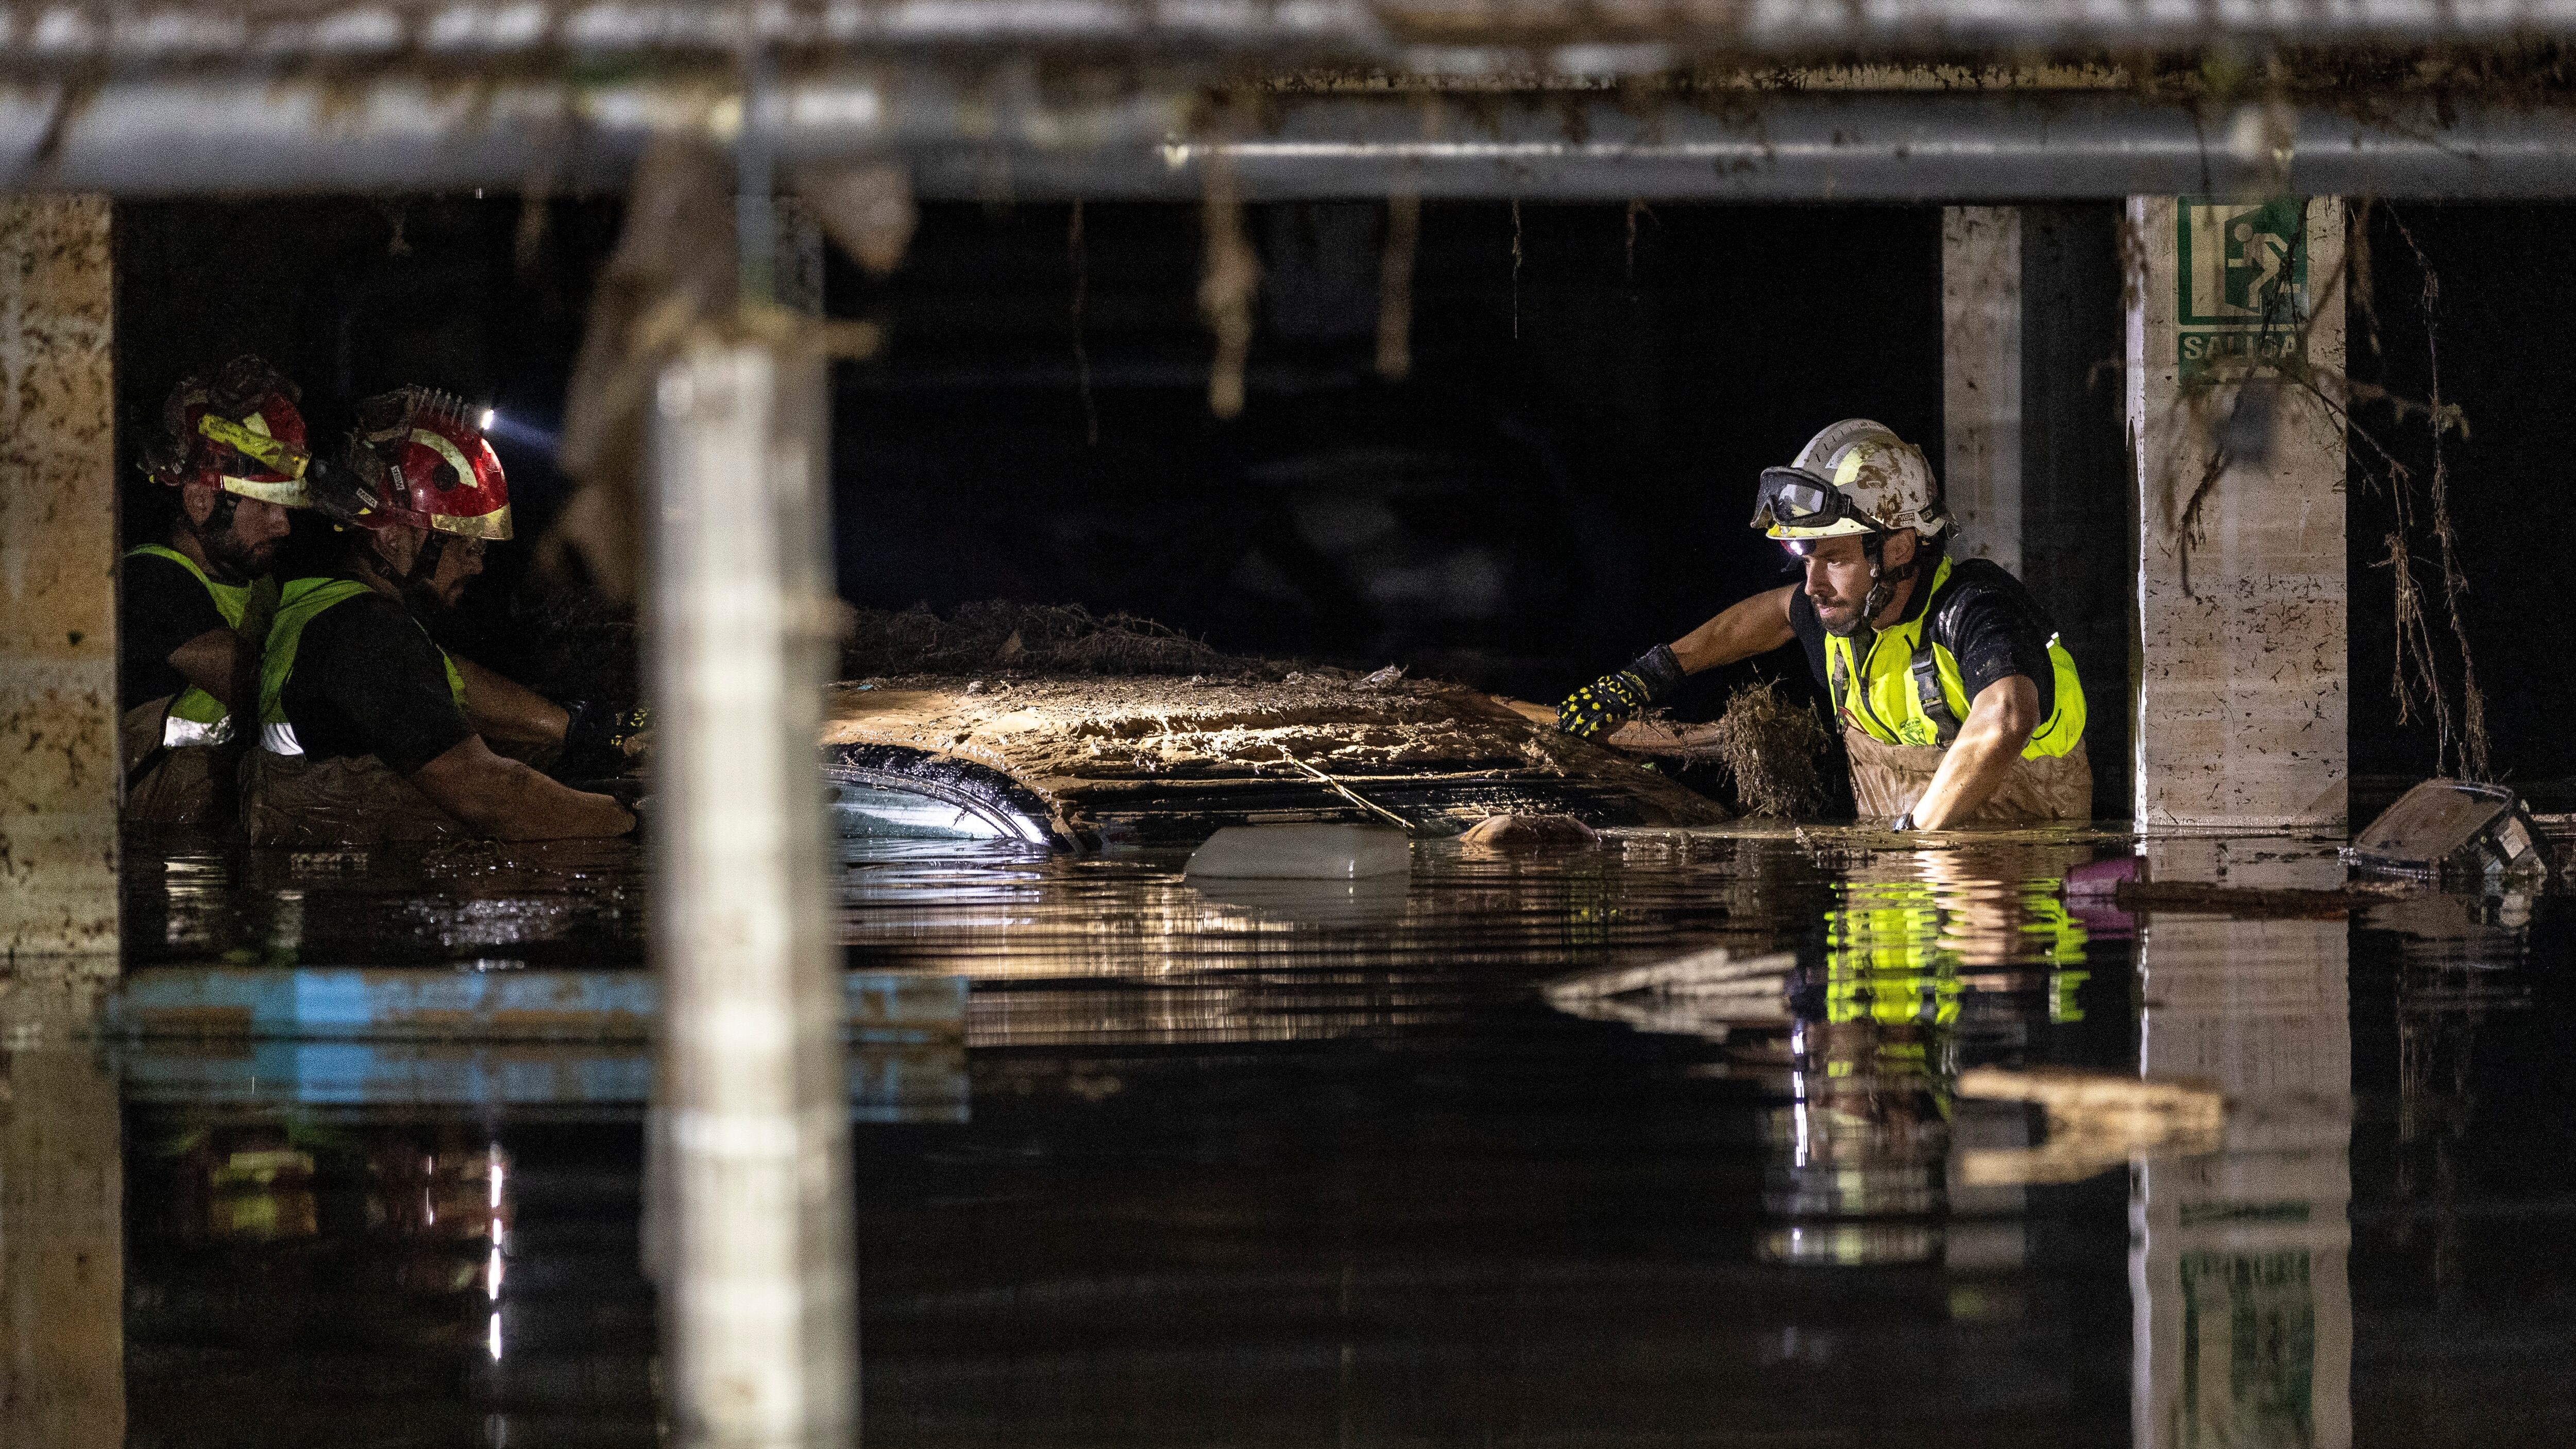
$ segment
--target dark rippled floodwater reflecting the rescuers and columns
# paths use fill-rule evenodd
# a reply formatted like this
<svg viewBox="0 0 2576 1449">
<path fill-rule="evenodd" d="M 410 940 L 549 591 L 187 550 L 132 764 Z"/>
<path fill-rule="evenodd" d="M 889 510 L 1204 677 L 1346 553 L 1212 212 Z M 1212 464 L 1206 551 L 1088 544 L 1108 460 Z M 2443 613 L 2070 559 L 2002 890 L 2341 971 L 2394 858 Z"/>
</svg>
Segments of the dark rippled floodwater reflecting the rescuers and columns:
<svg viewBox="0 0 2576 1449">
<path fill-rule="evenodd" d="M 2568 898 L 2069 906 L 2133 849 L 2339 878 L 2295 842 L 1816 831 L 1200 891 L 1180 854 L 853 844 L 853 965 L 974 978 L 963 1053 L 873 1078 L 855 1138 L 866 1441 L 2576 1444 Z M 170 965 L 634 968 L 641 891 L 618 847 L 178 854 L 126 932 Z M 1535 991 L 1718 945 L 1795 965 L 1646 1022 Z M 57 1274 L 52 1441 L 111 1444 L 116 1392 L 149 1446 L 654 1441 L 616 1071 L 327 1104 L 260 1058 L 211 1104 L 173 1086 L 206 1063 L 121 1048 L 118 1089 L 49 1042 L 10 1035 L 0 1241 Z M 1958 1096 L 1986 1063 L 2236 1109 L 2069 1163 Z M 103 1140 L 121 1220 L 31 1212 Z"/>
</svg>

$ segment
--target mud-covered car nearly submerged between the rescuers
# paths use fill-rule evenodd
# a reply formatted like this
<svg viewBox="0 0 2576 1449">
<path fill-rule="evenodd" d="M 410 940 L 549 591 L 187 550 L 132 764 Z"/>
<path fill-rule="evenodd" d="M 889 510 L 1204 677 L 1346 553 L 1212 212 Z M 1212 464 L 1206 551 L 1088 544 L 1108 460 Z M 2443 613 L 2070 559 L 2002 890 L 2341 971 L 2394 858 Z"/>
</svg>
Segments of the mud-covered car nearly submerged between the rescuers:
<svg viewBox="0 0 2576 1449">
<path fill-rule="evenodd" d="M 1517 705 L 1517 708 L 1515 708 Z M 1479 690 L 1345 672 L 835 685 L 824 770 L 850 834 L 1188 844 L 1221 826 L 1497 813 L 1698 826 L 1716 800 Z"/>
</svg>

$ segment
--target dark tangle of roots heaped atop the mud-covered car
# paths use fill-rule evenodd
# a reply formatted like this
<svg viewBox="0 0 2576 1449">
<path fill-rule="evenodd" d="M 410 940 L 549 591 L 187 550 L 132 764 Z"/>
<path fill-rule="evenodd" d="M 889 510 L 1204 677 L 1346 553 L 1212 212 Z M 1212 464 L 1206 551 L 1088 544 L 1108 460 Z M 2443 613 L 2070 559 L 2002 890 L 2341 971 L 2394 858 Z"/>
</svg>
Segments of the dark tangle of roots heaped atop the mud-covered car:
<svg viewBox="0 0 2576 1449">
<path fill-rule="evenodd" d="M 1149 618 L 1092 615 L 1082 605 L 930 605 L 902 613 L 855 610 L 842 669 L 858 674 L 1257 674 L 1260 659 L 1221 649 Z"/>
</svg>

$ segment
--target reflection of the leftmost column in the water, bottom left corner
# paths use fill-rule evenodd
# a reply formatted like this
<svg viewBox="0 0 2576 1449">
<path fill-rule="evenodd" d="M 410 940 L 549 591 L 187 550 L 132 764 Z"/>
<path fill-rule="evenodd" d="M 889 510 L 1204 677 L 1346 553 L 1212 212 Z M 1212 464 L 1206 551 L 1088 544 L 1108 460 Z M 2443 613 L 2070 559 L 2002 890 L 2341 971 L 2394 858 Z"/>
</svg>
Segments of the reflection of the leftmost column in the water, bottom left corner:
<svg viewBox="0 0 2576 1449">
<path fill-rule="evenodd" d="M 126 1441 L 124 1127 L 93 1014 L 88 978 L 0 975 L 0 1444 Z"/>
</svg>

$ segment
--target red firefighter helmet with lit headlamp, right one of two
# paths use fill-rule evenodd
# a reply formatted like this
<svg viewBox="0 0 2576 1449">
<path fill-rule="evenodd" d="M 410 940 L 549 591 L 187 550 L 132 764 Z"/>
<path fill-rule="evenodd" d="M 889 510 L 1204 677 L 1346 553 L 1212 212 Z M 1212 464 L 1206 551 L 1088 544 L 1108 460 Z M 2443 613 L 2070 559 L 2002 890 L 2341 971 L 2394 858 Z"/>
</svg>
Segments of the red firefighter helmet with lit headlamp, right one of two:
<svg viewBox="0 0 2576 1449">
<path fill-rule="evenodd" d="M 358 476 L 343 522 L 386 528 L 410 522 L 459 538 L 510 538 L 510 479 L 500 471 L 464 399 L 430 389 L 397 389 L 358 404 L 348 438 Z"/>
</svg>

